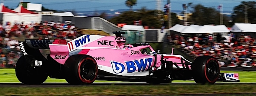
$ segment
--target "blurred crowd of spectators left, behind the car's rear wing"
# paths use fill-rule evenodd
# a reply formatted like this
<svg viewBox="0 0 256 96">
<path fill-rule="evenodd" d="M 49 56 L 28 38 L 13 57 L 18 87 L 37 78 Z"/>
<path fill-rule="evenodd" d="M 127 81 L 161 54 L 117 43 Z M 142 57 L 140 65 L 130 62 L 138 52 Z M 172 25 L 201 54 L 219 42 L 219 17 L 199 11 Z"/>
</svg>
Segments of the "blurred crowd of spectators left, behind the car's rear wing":
<svg viewBox="0 0 256 96">
<path fill-rule="evenodd" d="M 73 39 L 80 35 L 77 27 L 67 23 L 0 23 L 0 67 L 15 67 L 16 61 L 22 56 L 18 39 Z"/>
</svg>

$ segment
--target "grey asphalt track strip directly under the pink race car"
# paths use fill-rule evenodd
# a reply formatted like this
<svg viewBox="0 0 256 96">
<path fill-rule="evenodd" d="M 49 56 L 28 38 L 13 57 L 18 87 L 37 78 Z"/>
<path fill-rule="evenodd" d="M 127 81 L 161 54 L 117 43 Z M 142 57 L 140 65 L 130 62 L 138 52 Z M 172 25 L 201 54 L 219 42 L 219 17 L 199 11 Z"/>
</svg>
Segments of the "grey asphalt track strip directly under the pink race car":
<svg viewBox="0 0 256 96">
<path fill-rule="evenodd" d="M 256 83 L 215 83 L 214 85 L 256 85 Z M 148 83 L 92 83 L 87 86 L 108 86 L 108 85 L 150 85 Z M 160 85 L 197 85 L 197 83 L 162 83 Z M 75 86 L 86 86 L 86 85 L 69 85 L 69 83 L 43 83 L 41 85 L 25 85 L 23 83 L 0 83 L 0 87 L 75 87 Z"/>
</svg>

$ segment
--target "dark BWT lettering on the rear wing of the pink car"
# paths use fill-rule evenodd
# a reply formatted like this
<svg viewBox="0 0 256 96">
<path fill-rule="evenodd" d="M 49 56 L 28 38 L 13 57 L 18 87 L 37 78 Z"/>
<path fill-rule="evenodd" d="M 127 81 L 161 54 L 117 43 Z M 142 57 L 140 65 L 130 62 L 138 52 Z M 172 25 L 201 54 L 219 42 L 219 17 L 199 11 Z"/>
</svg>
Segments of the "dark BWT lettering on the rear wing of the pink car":
<svg viewBox="0 0 256 96">
<path fill-rule="evenodd" d="M 48 48 L 46 44 L 49 44 L 50 40 L 30 40 L 30 43 L 35 48 Z"/>
</svg>

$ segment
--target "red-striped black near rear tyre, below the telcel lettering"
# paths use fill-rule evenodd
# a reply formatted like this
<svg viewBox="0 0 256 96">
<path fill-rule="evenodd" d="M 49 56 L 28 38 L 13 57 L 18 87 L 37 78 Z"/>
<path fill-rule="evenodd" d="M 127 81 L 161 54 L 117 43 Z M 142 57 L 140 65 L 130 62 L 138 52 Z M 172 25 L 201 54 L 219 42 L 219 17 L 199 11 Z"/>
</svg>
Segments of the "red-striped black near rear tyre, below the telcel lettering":
<svg viewBox="0 0 256 96">
<path fill-rule="evenodd" d="M 98 66 L 91 56 L 70 56 L 65 66 L 65 79 L 71 85 L 91 85 L 97 77 Z"/>
</svg>

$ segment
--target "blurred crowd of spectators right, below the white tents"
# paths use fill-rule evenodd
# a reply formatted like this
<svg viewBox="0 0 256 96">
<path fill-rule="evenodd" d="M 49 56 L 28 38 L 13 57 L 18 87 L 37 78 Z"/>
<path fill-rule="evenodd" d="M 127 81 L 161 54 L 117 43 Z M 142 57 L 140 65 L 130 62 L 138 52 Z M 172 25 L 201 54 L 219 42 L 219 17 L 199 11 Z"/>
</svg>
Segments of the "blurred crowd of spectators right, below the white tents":
<svg viewBox="0 0 256 96">
<path fill-rule="evenodd" d="M 181 48 L 183 52 L 195 59 L 210 55 L 218 59 L 221 66 L 256 66 L 255 37 L 241 33 L 186 34 L 168 37 L 170 44 Z"/>
</svg>

